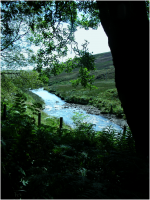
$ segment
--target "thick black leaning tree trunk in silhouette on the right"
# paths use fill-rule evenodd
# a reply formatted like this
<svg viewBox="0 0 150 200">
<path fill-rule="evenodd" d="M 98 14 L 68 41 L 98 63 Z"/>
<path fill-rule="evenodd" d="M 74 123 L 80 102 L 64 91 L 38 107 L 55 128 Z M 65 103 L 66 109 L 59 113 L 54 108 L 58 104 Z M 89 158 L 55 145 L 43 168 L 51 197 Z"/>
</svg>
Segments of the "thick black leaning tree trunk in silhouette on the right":
<svg viewBox="0 0 150 200">
<path fill-rule="evenodd" d="M 145 2 L 97 1 L 111 49 L 118 95 L 135 139 L 149 155 L 149 22 Z"/>
</svg>

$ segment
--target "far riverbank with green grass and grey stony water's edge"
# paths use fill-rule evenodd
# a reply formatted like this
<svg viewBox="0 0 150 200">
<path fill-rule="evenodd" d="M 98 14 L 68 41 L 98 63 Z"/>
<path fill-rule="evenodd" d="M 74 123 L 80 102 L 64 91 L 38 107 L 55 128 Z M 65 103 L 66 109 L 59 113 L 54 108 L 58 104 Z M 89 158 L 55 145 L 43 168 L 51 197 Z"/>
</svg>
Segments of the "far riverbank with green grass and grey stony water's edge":
<svg viewBox="0 0 150 200">
<path fill-rule="evenodd" d="M 62 87 L 63 86 L 60 88 L 62 89 Z M 67 89 L 66 87 L 66 90 L 64 91 L 60 88 L 56 86 L 48 86 L 45 87 L 44 90 L 55 94 L 62 100 L 65 100 L 66 104 L 64 106 L 66 108 L 76 108 L 79 110 L 83 109 L 88 114 L 100 115 L 119 125 L 121 128 L 128 126 L 127 120 L 120 105 L 120 101 L 118 99 L 116 89 L 108 89 L 105 92 L 100 93 L 99 97 L 93 95 L 93 91 L 90 91 L 91 93 L 89 92 L 86 94 L 86 89 L 84 89 L 84 91 L 83 89 L 81 89 L 82 91 L 77 89 L 72 89 L 69 91 L 69 88 Z M 83 94 L 81 95 L 81 92 L 84 93 L 84 96 Z M 68 96 L 66 96 L 67 94 Z"/>
</svg>

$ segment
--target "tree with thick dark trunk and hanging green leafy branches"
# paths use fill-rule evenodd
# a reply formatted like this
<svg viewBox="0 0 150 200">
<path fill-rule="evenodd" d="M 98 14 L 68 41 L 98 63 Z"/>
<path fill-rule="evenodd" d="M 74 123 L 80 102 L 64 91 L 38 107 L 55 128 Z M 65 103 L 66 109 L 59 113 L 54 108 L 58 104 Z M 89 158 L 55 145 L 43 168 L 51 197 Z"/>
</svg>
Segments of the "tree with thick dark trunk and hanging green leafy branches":
<svg viewBox="0 0 150 200">
<path fill-rule="evenodd" d="M 13 2 L 6 4 L 11 5 Z M 58 58 L 67 54 L 67 44 L 77 46 L 73 37 L 76 27 L 97 28 L 101 21 L 113 57 L 119 98 L 133 133 L 137 152 L 148 155 L 148 115 L 147 121 L 141 119 L 144 115 L 143 110 L 146 111 L 148 107 L 145 103 L 148 96 L 139 91 L 141 87 L 144 91 L 148 90 L 148 2 L 22 1 L 16 4 L 20 6 L 17 12 L 22 13 L 24 17 L 32 14 L 30 23 L 27 24 L 30 27 L 31 44 L 40 45 L 36 55 L 36 70 L 39 73 L 43 73 L 44 67 L 55 75 L 61 73 L 65 67 L 70 71 L 74 67 L 73 64 L 69 64 L 71 61 L 63 65 Z M 81 11 L 83 14 L 79 18 L 78 12 Z M 9 13 L 14 16 L 13 7 Z M 62 22 L 69 24 L 68 30 L 61 30 Z M 6 30 L 9 30 L 7 22 L 5 24 Z M 78 52 L 77 49 L 73 48 Z M 88 71 L 94 67 L 84 67 L 86 62 L 83 62 L 83 58 L 92 61 L 92 56 L 86 50 L 81 51 L 81 57 L 76 58 L 80 62 L 80 77 L 73 84 L 77 85 L 80 82 L 86 87 L 93 82 Z M 143 66 L 144 70 L 141 69 Z M 139 108 L 140 105 L 142 108 Z"/>
</svg>

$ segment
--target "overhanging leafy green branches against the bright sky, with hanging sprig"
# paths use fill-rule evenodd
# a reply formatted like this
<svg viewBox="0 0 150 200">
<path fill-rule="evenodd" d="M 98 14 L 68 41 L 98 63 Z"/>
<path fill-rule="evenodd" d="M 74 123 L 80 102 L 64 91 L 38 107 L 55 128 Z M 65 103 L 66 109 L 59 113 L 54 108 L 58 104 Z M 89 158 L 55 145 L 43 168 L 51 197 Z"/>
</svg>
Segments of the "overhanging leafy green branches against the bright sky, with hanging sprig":
<svg viewBox="0 0 150 200">
<path fill-rule="evenodd" d="M 86 19 L 78 16 L 81 10 Z M 8 69 L 37 64 L 35 69 L 40 73 L 40 79 L 47 83 L 49 72 L 58 75 L 63 69 L 71 70 L 70 66 L 68 69 L 59 62 L 60 57 L 67 55 L 67 45 L 71 44 L 71 47 L 76 46 L 72 49 L 78 53 L 78 67 L 82 68 L 74 85 L 81 83 L 91 88 L 94 79 L 88 71 L 94 69 L 93 57 L 85 47 L 83 51 L 78 50 L 73 33 L 79 25 L 97 28 L 100 22 L 98 13 L 96 2 L 2 2 L 3 65 Z M 68 23 L 68 29 L 62 29 L 62 23 Z M 39 47 L 36 55 L 29 48 L 31 45 Z M 43 70 L 45 67 L 48 70 Z"/>
</svg>

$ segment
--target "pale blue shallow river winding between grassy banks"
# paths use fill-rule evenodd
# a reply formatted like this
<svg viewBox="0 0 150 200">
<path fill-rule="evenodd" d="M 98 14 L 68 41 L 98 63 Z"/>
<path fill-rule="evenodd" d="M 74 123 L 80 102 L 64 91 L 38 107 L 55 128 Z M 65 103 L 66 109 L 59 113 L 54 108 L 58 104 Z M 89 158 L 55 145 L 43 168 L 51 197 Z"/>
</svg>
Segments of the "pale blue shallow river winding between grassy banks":
<svg viewBox="0 0 150 200">
<path fill-rule="evenodd" d="M 43 110 L 45 113 L 58 118 L 63 117 L 63 121 L 72 128 L 74 128 L 75 125 L 73 124 L 73 120 L 71 118 L 73 117 L 73 115 L 75 115 L 76 112 L 78 112 L 86 116 L 83 122 L 92 123 L 96 125 L 93 127 L 96 131 L 101 131 L 102 129 L 105 129 L 110 125 L 113 129 L 116 129 L 117 132 L 123 131 L 120 126 L 111 122 L 105 117 L 102 117 L 100 115 L 87 114 L 86 111 L 78 108 L 66 108 L 66 102 L 64 100 L 57 97 L 55 94 L 49 93 L 43 88 L 31 91 L 37 94 L 38 96 L 42 97 L 42 99 L 45 101 L 45 109 Z"/>
</svg>

